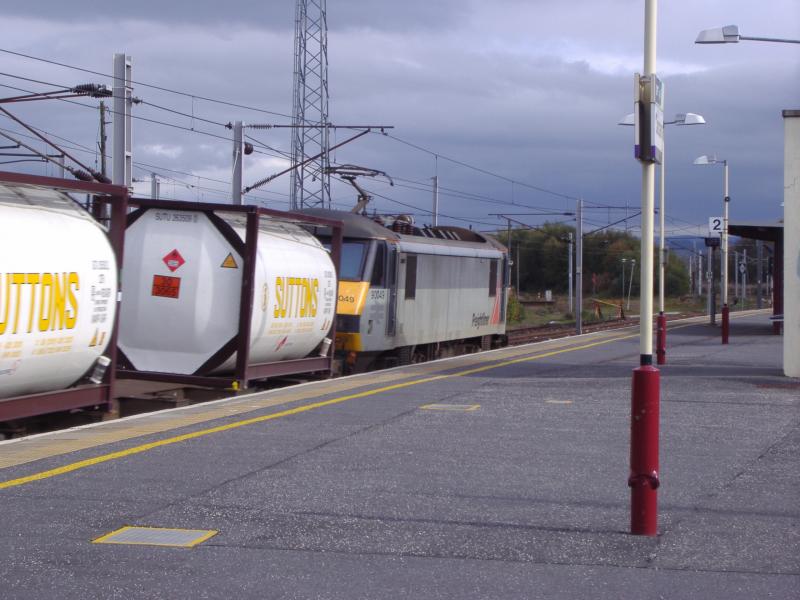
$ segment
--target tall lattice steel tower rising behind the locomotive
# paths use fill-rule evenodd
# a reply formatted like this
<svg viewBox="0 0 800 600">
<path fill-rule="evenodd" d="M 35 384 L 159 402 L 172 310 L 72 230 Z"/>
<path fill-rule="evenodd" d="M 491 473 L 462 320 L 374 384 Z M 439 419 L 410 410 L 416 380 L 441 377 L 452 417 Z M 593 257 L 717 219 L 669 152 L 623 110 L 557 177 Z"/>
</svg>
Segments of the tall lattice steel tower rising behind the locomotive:
<svg viewBox="0 0 800 600">
<path fill-rule="evenodd" d="M 292 209 L 330 208 L 328 130 L 328 20 L 326 0 L 297 0 L 294 32 Z"/>
</svg>

